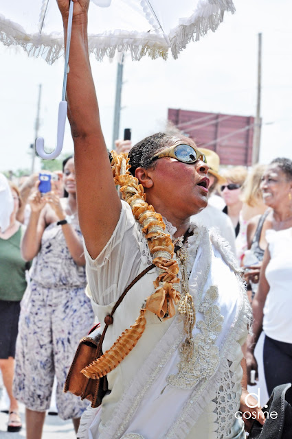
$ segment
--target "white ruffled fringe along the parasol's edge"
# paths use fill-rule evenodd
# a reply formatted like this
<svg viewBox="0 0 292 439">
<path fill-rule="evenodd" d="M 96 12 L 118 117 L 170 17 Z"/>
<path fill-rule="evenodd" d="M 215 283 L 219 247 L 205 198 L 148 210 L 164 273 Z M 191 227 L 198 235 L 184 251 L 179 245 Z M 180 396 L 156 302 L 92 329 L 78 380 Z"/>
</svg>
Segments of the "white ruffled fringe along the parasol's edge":
<svg viewBox="0 0 292 439">
<path fill-rule="evenodd" d="M 191 40 L 198 41 L 208 30 L 215 32 L 223 21 L 224 12 L 235 12 L 232 0 L 199 1 L 192 16 L 179 19 L 179 26 L 170 31 L 169 40 L 172 56 L 177 59 Z M 6 46 L 21 46 L 28 56 L 41 56 L 48 64 L 53 64 L 64 54 L 63 35 L 51 34 L 43 36 L 27 35 L 21 25 L 14 23 L 0 14 L 0 41 Z M 98 43 L 97 43 L 98 42 Z M 98 47 L 97 47 L 98 45 Z M 168 45 L 164 36 L 144 32 L 120 33 L 106 32 L 99 36 L 89 35 L 89 53 L 93 53 L 98 61 L 104 56 L 113 58 L 116 52 L 129 52 L 134 61 L 148 55 L 151 59 L 168 58 Z"/>
</svg>

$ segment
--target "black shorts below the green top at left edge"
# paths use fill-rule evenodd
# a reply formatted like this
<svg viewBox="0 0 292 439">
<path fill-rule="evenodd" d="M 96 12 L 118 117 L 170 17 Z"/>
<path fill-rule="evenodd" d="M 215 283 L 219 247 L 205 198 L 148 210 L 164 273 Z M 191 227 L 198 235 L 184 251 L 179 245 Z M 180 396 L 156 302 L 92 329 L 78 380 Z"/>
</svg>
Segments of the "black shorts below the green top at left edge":
<svg viewBox="0 0 292 439">
<path fill-rule="evenodd" d="M 15 344 L 21 310 L 20 303 L 20 301 L 0 300 L 0 359 L 15 357 Z"/>
</svg>

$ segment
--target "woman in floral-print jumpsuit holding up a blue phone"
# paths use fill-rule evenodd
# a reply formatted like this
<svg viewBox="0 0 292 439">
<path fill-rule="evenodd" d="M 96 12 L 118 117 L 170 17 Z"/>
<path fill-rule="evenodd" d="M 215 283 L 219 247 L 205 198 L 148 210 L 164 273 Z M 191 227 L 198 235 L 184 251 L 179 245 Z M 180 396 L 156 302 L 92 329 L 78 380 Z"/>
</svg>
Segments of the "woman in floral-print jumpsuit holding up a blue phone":
<svg viewBox="0 0 292 439">
<path fill-rule="evenodd" d="M 76 206 L 74 157 L 63 162 L 67 198 L 36 189 L 28 199 L 30 220 L 21 242 L 25 260 L 31 260 L 30 285 L 21 304 L 16 343 L 14 394 L 25 404 L 27 438 L 41 438 L 54 376 L 56 403 L 63 419 L 77 429 L 87 403 L 63 387 L 80 338 L 93 324 L 85 295 L 85 257 Z"/>
</svg>

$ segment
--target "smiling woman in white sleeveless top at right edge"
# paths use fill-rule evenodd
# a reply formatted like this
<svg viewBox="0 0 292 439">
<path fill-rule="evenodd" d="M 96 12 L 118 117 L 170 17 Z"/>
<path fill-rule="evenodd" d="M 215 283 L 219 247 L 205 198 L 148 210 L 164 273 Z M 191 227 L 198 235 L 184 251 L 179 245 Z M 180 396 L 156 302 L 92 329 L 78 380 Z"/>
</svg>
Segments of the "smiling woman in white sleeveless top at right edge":
<svg viewBox="0 0 292 439">
<path fill-rule="evenodd" d="M 261 189 L 262 198 L 273 210 L 265 219 L 269 227 L 267 230 L 266 226 L 267 248 L 252 302 L 254 335 L 247 342 L 247 368 L 248 376 L 256 370 L 257 379 L 254 350 L 265 331 L 264 368 L 271 395 L 276 385 L 292 382 L 292 161 L 273 160 L 262 177 Z M 254 385 L 250 378 L 249 384 Z"/>
</svg>

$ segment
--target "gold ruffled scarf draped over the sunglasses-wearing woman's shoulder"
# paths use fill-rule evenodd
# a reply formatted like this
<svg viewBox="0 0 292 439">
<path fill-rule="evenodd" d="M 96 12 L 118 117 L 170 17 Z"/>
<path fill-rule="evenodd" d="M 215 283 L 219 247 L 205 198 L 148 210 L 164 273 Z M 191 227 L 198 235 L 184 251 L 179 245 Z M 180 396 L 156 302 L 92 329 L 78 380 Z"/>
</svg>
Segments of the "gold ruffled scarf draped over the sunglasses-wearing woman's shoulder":
<svg viewBox="0 0 292 439">
<path fill-rule="evenodd" d="M 175 305 L 180 302 L 179 312 L 185 315 L 185 330 L 188 339 L 192 338 L 192 328 L 194 327 L 192 296 L 187 292 L 181 297 L 174 286 L 180 282 L 177 277 L 179 265 L 175 259 L 172 259 L 175 247 L 170 235 L 164 231 L 166 226 L 163 219 L 159 213 L 155 212 L 153 206 L 146 203 L 146 193 L 144 193 L 143 186 L 139 185 L 139 180 L 128 171 L 131 167 L 128 155 L 120 154 L 117 156 L 115 152 L 112 152 L 112 156 L 111 169 L 115 185 L 121 187 L 123 200 L 131 206 L 135 219 L 142 226 L 142 232 L 153 256 L 153 263 L 159 269 L 159 276 L 153 282 L 155 292 L 146 298 L 135 323 L 126 329 L 100 358 L 82 369 L 81 372 L 87 378 L 93 379 L 104 377 L 111 372 L 136 346 L 144 333 L 147 310 L 155 313 L 161 319 L 172 318 L 175 316 Z M 183 286 L 186 287 L 186 285 Z"/>
</svg>

